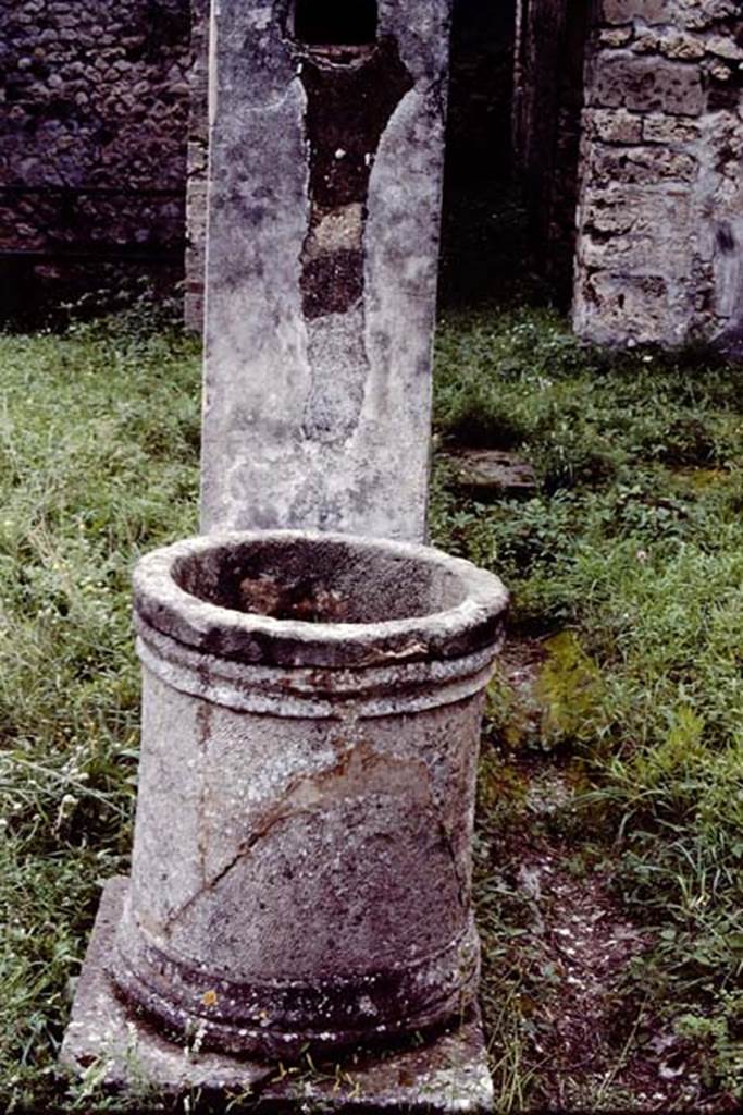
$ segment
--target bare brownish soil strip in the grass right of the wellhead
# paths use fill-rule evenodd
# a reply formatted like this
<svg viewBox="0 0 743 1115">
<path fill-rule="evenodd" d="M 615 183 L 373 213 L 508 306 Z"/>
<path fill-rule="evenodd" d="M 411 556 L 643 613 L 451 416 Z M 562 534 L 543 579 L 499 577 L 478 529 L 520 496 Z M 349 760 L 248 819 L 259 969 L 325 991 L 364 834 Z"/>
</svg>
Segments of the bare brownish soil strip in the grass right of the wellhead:
<svg viewBox="0 0 743 1115">
<path fill-rule="evenodd" d="M 508 683 L 532 727 L 541 716 L 539 639 L 511 639 L 502 657 Z M 635 970 L 651 942 L 622 902 L 618 854 L 581 830 L 574 802 L 585 789 L 573 756 L 514 756 L 522 780 L 518 820 L 493 844 L 491 860 L 514 895 L 510 958 L 520 970 L 519 1005 L 529 1041 L 527 1109 L 713 1112 L 692 1045 L 653 1012 Z"/>
</svg>

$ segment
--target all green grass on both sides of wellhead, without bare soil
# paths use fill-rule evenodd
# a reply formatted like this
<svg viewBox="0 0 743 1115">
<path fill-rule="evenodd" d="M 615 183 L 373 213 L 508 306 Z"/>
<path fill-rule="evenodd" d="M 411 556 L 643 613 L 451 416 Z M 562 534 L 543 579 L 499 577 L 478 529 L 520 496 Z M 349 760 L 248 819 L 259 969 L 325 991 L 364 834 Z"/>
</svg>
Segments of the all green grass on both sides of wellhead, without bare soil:
<svg viewBox="0 0 743 1115">
<path fill-rule="evenodd" d="M 70 979 L 99 883 L 126 871 L 130 847 L 130 569 L 195 530 L 198 355 L 133 313 L 0 337 L 0 1098 L 61 1111 L 75 1104 L 55 1075 Z M 648 933 L 627 1001 L 642 993 L 694 1050 L 710 1095 L 740 1088 L 742 378 L 701 351 L 598 353 L 538 310 L 441 326 L 439 444 L 515 448 L 539 475 L 531 498 L 487 506 L 443 463 L 433 483 L 436 541 L 496 570 L 514 638 L 547 652 L 538 726 L 496 686 L 483 749 L 476 851 L 499 1111 L 544 1101 L 524 899 L 496 863 L 525 823 L 524 756 L 578 772 L 549 824 L 576 870 L 610 862 Z M 608 1106 L 633 1034 L 600 1085 Z"/>
</svg>

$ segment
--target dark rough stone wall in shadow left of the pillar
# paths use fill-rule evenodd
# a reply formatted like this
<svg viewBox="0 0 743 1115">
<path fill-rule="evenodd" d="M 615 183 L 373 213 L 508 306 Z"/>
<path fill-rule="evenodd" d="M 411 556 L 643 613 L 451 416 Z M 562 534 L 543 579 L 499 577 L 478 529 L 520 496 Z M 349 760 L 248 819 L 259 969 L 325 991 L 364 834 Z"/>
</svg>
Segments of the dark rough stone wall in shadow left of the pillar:
<svg viewBox="0 0 743 1115">
<path fill-rule="evenodd" d="M 0 0 L 6 310 L 76 268 L 177 265 L 188 69 L 188 0 Z"/>
</svg>

